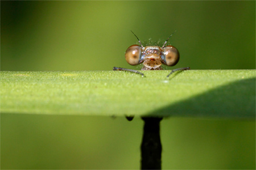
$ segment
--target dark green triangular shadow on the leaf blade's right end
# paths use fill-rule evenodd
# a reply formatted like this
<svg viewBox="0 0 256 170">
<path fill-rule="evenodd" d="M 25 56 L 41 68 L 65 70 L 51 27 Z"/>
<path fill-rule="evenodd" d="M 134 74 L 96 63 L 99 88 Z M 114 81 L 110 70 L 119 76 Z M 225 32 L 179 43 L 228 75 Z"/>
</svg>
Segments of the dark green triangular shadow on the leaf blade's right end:
<svg viewBox="0 0 256 170">
<path fill-rule="evenodd" d="M 239 80 L 147 114 L 156 115 L 255 119 L 255 78 Z"/>
</svg>

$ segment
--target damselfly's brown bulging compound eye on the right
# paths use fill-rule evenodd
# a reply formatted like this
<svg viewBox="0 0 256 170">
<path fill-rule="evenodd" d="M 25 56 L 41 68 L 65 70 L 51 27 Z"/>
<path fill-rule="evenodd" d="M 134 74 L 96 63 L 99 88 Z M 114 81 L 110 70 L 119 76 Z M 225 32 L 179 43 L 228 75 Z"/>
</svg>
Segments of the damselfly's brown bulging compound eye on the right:
<svg viewBox="0 0 256 170">
<path fill-rule="evenodd" d="M 167 66 L 174 66 L 180 59 L 179 51 L 172 45 L 168 45 L 163 48 L 164 56 L 166 57 L 166 65 Z"/>
</svg>

